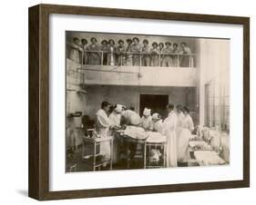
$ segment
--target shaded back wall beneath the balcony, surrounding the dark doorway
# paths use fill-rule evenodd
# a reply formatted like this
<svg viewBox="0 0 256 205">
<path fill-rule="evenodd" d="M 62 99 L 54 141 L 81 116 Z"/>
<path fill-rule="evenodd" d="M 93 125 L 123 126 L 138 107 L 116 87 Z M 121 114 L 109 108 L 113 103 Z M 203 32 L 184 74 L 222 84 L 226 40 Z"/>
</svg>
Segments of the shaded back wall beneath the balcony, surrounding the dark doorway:
<svg viewBox="0 0 256 205">
<path fill-rule="evenodd" d="M 169 102 L 174 104 L 188 105 L 193 109 L 195 107 L 195 99 L 189 97 L 186 88 L 178 87 L 135 87 L 135 86 L 108 86 L 93 85 L 86 88 L 87 101 L 85 103 L 86 112 L 90 116 L 94 116 L 97 109 L 100 108 L 102 101 L 108 101 L 111 104 L 124 104 L 126 106 L 135 107 L 139 112 L 139 94 L 169 94 Z"/>
</svg>

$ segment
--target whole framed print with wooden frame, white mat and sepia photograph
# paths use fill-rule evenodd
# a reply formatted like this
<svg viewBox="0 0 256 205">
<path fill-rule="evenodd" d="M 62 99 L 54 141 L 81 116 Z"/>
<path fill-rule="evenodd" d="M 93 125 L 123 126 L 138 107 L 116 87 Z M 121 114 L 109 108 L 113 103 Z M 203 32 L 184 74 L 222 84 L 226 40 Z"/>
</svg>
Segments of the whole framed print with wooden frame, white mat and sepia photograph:
<svg viewBox="0 0 256 205">
<path fill-rule="evenodd" d="M 29 196 L 250 186 L 250 19 L 29 8 Z"/>
</svg>

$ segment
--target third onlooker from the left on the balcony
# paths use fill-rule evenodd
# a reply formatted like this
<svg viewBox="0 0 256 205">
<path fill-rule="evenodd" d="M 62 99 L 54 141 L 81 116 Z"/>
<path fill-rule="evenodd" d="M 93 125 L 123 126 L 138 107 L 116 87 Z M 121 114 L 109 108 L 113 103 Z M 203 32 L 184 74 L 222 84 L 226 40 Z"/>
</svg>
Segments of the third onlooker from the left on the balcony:
<svg viewBox="0 0 256 205">
<path fill-rule="evenodd" d="M 100 47 L 97 45 L 97 39 L 92 37 L 91 44 L 87 46 L 88 64 L 99 65 L 101 64 Z"/>
</svg>

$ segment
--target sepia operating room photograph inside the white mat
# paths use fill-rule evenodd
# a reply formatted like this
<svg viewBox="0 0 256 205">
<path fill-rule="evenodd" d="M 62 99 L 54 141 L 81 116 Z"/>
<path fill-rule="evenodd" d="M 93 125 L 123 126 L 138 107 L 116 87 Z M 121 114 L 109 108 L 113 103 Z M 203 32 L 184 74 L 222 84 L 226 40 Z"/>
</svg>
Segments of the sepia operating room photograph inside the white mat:
<svg viewBox="0 0 256 205">
<path fill-rule="evenodd" d="M 66 172 L 230 164 L 230 39 L 66 31 Z"/>
</svg>

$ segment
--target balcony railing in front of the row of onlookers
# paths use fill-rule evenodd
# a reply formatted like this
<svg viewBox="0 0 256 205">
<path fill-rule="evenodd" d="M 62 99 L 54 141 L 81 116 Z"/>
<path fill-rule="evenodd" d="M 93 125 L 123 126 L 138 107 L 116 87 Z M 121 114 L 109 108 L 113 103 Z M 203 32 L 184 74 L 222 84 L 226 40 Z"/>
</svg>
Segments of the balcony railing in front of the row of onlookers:
<svg viewBox="0 0 256 205">
<path fill-rule="evenodd" d="M 194 68 L 196 62 L 195 60 L 197 57 L 196 54 L 82 51 L 78 48 L 74 50 L 72 51 L 72 53 L 69 51 L 69 54 L 67 54 L 68 58 L 82 65 L 158 66 Z M 76 52 L 77 54 L 74 54 Z"/>
</svg>

